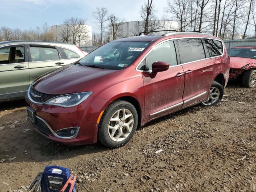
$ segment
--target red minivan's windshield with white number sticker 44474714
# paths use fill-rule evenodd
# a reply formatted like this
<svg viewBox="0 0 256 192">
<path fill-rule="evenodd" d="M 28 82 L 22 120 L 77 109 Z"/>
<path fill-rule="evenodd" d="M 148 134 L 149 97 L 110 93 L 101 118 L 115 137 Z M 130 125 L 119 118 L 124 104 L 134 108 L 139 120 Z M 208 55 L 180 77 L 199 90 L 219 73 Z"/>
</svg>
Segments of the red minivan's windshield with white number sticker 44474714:
<svg viewBox="0 0 256 192">
<path fill-rule="evenodd" d="M 78 64 L 121 70 L 132 64 L 149 45 L 150 42 L 109 42 L 85 56 Z"/>
</svg>

